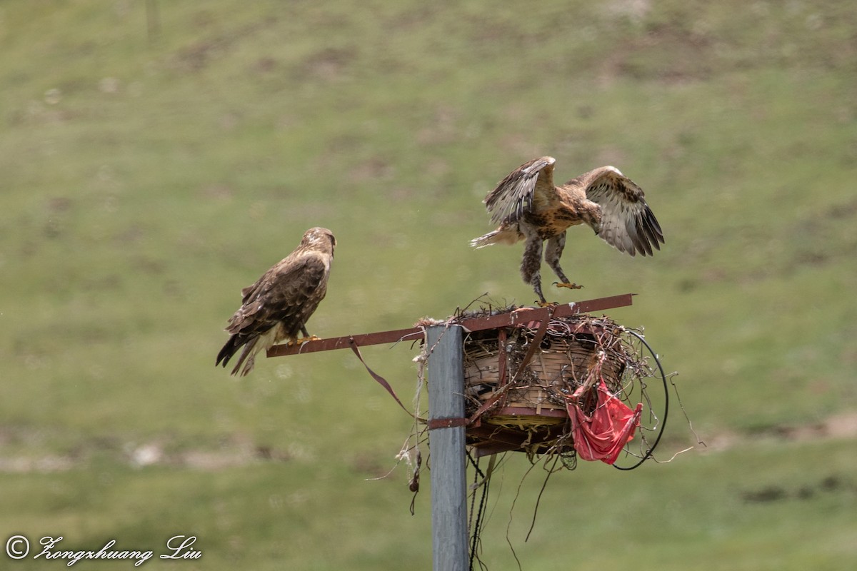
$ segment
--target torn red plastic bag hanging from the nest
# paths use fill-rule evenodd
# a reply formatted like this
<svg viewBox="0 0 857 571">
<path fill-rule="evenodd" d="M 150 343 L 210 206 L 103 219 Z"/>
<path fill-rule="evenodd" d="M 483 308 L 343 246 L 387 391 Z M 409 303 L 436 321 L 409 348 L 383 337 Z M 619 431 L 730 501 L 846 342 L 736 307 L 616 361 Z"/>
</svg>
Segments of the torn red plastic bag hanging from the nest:
<svg viewBox="0 0 857 571">
<path fill-rule="evenodd" d="M 567 397 L 568 416 L 572 419 L 574 449 L 583 460 L 600 460 L 613 464 L 625 444 L 634 437 L 640 424 L 643 403 L 632 410 L 624 402 L 610 394 L 602 378 L 598 383 L 598 402 L 590 415 L 579 406 L 579 389 Z"/>
</svg>

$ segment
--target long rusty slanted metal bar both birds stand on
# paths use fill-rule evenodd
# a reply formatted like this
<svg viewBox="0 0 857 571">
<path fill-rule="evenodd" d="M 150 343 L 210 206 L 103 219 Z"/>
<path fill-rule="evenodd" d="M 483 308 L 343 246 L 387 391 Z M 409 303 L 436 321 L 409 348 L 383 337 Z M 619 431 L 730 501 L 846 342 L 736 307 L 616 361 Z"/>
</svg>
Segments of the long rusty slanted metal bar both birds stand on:
<svg viewBox="0 0 857 571">
<path fill-rule="evenodd" d="M 554 318 L 576 315 L 577 313 L 600 312 L 614 307 L 626 307 L 632 305 L 634 294 L 612 295 L 595 300 L 574 301 L 553 307 Z M 482 331 L 497 329 L 499 327 L 513 327 L 517 324 L 526 324 L 531 321 L 541 321 L 548 317 L 548 307 L 521 307 L 513 312 L 500 313 L 465 319 L 460 323 L 464 330 Z M 351 348 L 352 344 L 357 347 L 367 345 L 381 345 L 382 343 L 395 343 L 399 341 L 416 341 L 424 335 L 423 327 L 411 327 L 392 331 L 378 331 L 376 333 L 363 333 L 361 335 L 349 335 L 343 337 L 330 337 L 317 339 L 315 341 L 303 342 L 301 345 L 274 345 L 267 350 L 268 357 L 283 357 L 303 353 L 315 353 L 316 351 L 331 351 L 333 349 Z"/>
</svg>

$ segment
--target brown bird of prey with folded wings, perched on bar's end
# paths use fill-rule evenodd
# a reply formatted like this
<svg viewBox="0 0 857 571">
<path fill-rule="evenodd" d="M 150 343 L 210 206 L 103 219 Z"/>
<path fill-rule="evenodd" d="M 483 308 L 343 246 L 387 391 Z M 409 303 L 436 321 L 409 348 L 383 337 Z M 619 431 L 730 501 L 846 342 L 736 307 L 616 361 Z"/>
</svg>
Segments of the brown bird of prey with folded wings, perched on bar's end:
<svg viewBox="0 0 857 571">
<path fill-rule="evenodd" d="M 242 346 L 244 350 L 232 374 L 244 364 L 242 376 L 253 370 L 255 356 L 284 341 L 291 344 L 313 337 L 306 323 L 327 293 L 327 277 L 336 238 L 326 228 L 310 228 L 295 251 L 266 271 L 259 281 L 243 288 L 243 305 L 229 319 L 229 341 L 220 349 L 223 366 Z M 298 332 L 303 338 L 298 339 Z M 317 338 L 317 337 L 316 337 Z M 246 363 L 245 363 L 246 361 Z"/>
</svg>

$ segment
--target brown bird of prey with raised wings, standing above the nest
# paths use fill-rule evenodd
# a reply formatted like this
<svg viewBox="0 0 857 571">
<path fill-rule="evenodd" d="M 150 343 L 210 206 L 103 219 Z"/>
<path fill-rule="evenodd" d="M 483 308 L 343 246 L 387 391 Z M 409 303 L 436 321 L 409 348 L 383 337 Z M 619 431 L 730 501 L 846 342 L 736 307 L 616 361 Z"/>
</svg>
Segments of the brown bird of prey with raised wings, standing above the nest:
<svg viewBox="0 0 857 571">
<path fill-rule="evenodd" d="M 554 270 L 558 288 L 580 288 L 569 283 L 560 256 L 566 246 L 566 229 L 589 224 L 620 252 L 651 255 L 660 250 L 663 234 L 655 215 L 643 199 L 643 189 L 615 167 L 600 167 L 554 186 L 553 157 L 542 157 L 522 164 L 500 181 L 485 197 L 491 221 L 500 227 L 470 241 L 470 246 L 514 244 L 524 240 L 521 275 L 532 285 L 542 306 L 542 241 L 544 261 Z"/>
</svg>

